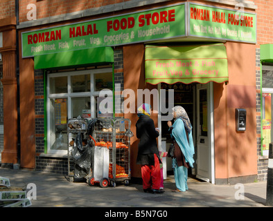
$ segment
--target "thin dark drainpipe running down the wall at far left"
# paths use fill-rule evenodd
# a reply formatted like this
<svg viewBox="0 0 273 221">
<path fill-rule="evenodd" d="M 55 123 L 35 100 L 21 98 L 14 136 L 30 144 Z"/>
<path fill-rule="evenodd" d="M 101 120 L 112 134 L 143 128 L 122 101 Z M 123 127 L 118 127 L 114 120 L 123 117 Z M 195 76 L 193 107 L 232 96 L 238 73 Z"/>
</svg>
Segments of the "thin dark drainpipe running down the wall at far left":
<svg viewBox="0 0 273 221">
<path fill-rule="evenodd" d="M 19 0 L 15 0 L 16 26 L 19 26 Z M 16 77 L 17 77 L 17 164 L 14 169 L 19 169 L 21 163 L 21 137 L 20 137 L 20 91 L 19 91 L 19 39 L 16 28 Z"/>
</svg>

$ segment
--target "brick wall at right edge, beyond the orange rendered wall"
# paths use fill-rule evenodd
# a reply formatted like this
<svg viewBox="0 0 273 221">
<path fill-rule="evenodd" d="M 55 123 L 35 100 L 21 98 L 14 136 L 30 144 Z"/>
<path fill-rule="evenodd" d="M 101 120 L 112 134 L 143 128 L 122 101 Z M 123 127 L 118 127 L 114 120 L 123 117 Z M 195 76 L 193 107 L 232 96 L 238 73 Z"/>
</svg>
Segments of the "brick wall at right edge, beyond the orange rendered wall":
<svg viewBox="0 0 273 221">
<path fill-rule="evenodd" d="M 260 45 L 273 44 L 273 1 L 254 0 L 257 6 L 257 44 L 256 44 L 256 112 L 257 112 L 257 153 L 258 180 L 267 180 L 268 160 L 261 157 L 261 61 Z"/>
</svg>

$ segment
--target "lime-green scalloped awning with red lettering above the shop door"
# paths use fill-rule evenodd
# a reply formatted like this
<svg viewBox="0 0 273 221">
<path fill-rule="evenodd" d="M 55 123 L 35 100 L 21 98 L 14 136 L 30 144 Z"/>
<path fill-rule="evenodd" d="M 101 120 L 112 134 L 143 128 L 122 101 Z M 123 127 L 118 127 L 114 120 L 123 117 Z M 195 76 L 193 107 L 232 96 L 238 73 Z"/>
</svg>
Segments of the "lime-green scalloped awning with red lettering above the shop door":
<svg viewBox="0 0 273 221">
<path fill-rule="evenodd" d="M 224 44 L 145 48 L 146 83 L 190 84 L 229 80 Z"/>
</svg>

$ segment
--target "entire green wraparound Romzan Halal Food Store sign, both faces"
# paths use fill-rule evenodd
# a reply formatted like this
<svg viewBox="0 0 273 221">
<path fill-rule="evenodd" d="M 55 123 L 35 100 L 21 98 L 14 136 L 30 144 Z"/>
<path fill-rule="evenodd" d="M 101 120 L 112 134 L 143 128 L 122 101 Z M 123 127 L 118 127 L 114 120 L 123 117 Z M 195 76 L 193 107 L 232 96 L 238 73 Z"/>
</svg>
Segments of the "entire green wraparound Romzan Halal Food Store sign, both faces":
<svg viewBox="0 0 273 221">
<path fill-rule="evenodd" d="M 178 3 L 22 32 L 22 57 L 179 37 L 256 43 L 256 14 L 189 2 Z"/>
</svg>

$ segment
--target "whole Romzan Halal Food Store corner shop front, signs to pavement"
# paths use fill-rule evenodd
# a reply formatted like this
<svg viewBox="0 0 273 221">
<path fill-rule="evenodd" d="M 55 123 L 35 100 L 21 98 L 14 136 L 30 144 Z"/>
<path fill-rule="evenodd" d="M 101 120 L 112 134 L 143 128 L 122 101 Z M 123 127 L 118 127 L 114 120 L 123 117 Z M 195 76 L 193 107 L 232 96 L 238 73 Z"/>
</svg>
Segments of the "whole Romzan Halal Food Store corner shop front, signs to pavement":
<svg viewBox="0 0 273 221">
<path fill-rule="evenodd" d="M 150 103 L 159 149 L 168 151 L 167 121 L 180 105 L 193 124 L 192 175 L 216 184 L 256 175 L 253 10 L 166 3 L 20 28 L 19 42 L 21 167 L 56 172 L 63 164 L 59 172 L 66 173 L 67 119 L 100 116 L 103 89 L 112 97 L 107 117 L 130 119 L 135 135 L 139 90 L 148 89 L 157 92 Z M 236 131 L 236 108 L 247 111 L 245 131 Z M 141 177 L 139 141 L 134 136 L 130 142 L 131 174 Z M 164 168 L 166 177 L 168 158 Z"/>
</svg>

